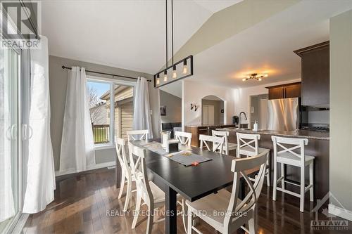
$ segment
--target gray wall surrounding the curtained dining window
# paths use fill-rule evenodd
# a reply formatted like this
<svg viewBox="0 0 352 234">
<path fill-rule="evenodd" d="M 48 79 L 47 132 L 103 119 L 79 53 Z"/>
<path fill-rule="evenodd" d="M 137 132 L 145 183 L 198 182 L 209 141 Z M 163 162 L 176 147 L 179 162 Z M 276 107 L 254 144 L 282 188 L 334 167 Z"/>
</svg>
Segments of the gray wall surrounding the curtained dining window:
<svg viewBox="0 0 352 234">
<path fill-rule="evenodd" d="M 130 77 L 146 77 L 151 79 L 151 74 L 134 72 L 116 67 L 108 67 L 94 63 L 85 63 L 68 58 L 49 56 L 49 84 L 50 84 L 50 104 L 51 104 L 51 141 L 54 151 L 55 170 L 60 165 L 60 148 L 61 136 L 63 131 L 63 113 L 65 110 L 66 86 L 68 83 L 68 70 L 61 68 L 62 65 L 67 67 L 79 66 L 85 67 L 86 70 L 106 72 L 112 74 L 123 74 Z M 89 74 L 89 73 L 88 73 Z M 94 75 L 94 74 L 92 74 Z M 95 74 L 96 75 L 96 74 Z M 104 77 L 103 75 L 99 75 Z M 108 76 L 105 76 L 108 77 Z M 108 77 L 111 78 L 111 77 Z M 130 79 L 129 79 L 130 80 Z M 160 115 L 158 115 L 158 89 L 149 85 L 149 98 L 152 110 L 153 132 L 158 136 L 160 127 Z M 115 160 L 115 149 L 96 150 L 96 164 L 103 162 L 112 162 Z"/>
</svg>

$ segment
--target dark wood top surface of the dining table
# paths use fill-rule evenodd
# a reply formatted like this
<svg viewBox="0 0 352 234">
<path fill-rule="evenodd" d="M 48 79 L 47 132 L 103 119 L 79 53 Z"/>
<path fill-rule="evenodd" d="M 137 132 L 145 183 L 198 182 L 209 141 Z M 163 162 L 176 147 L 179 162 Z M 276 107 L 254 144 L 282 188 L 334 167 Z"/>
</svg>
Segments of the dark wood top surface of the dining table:
<svg viewBox="0 0 352 234">
<path fill-rule="evenodd" d="M 160 139 L 154 138 L 148 141 L 160 142 Z M 139 145 L 139 142 L 141 141 L 132 141 L 134 145 Z M 198 166 L 185 167 L 168 157 L 146 150 L 146 167 L 151 170 L 154 176 L 163 180 L 167 186 L 191 202 L 232 185 L 234 173 L 231 171 L 231 164 L 235 157 L 220 155 L 217 152 L 200 148 L 192 147 L 191 150 L 197 155 L 212 160 L 202 162 Z"/>
</svg>

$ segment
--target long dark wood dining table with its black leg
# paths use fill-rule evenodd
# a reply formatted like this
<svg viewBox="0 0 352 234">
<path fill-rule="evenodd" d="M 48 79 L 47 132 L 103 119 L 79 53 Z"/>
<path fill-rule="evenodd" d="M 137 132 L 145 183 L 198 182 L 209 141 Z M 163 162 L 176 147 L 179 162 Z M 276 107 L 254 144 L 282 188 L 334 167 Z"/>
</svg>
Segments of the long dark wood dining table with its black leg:
<svg viewBox="0 0 352 234">
<path fill-rule="evenodd" d="M 130 141 L 132 145 L 141 146 L 151 142 L 161 142 L 161 138 Z M 232 186 L 234 173 L 231 171 L 232 160 L 236 157 L 222 155 L 201 148 L 189 148 L 192 153 L 211 160 L 201 162 L 196 166 L 186 167 L 158 152 L 146 148 L 146 167 L 153 174 L 153 183 L 165 193 L 165 233 L 177 233 L 177 193 L 185 200 L 194 202 L 217 193 L 218 190 Z M 258 171 L 246 171 L 252 174 Z M 239 198 L 244 198 L 246 182 L 240 180 Z M 168 214 L 168 215 L 166 215 Z"/>
</svg>

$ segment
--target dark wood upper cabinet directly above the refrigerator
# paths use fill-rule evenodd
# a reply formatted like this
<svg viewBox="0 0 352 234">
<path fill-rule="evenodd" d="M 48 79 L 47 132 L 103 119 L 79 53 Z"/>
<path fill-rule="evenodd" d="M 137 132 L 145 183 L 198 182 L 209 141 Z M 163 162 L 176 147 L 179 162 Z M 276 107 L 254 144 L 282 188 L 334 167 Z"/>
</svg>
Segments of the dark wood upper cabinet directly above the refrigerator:
<svg viewBox="0 0 352 234">
<path fill-rule="evenodd" d="M 269 99 L 301 97 L 301 82 L 266 87 L 269 89 Z"/>
</svg>

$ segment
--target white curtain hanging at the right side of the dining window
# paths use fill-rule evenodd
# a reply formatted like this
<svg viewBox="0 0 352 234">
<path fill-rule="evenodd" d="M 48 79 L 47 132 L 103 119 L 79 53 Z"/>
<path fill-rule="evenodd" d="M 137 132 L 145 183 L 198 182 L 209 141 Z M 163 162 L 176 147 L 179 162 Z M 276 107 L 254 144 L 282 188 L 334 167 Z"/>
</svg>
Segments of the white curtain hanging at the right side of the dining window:
<svg viewBox="0 0 352 234">
<path fill-rule="evenodd" d="M 153 138 L 153 129 L 151 129 L 148 82 L 144 77 L 138 77 L 137 85 L 135 88 L 133 129 L 149 129 L 149 138 Z"/>
</svg>

